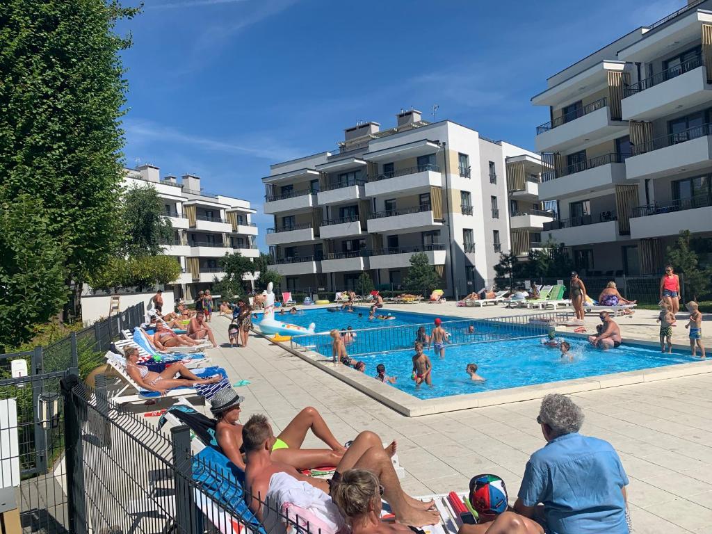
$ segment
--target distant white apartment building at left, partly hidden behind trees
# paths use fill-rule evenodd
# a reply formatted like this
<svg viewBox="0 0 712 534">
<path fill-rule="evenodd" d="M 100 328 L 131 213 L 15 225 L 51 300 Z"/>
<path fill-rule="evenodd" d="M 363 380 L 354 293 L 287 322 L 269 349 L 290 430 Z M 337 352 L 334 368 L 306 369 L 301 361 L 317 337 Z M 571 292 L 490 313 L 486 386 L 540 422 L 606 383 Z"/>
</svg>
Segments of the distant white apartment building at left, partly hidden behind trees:
<svg viewBox="0 0 712 534">
<path fill-rule="evenodd" d="M 226 254 L 241 253 L 257 258 L 257 226 L 251 221 L 249 201 L 209 194 L 197 176 L 161 179 L 159 167 L 145 164 L 125 169 L 125 187 L 151 184 L 163 200 L 165 217 L 173 226 L 173 239 L 165 246 L 168 256 L 176 256 L 182 273 L 172 284 L 175 298 L 192 300 L 199 290 L 210 289 L 214 279 L 225 273 L 218 260 Z M 245 280 L 253 281 L 252 276 Z"/>
</svg>

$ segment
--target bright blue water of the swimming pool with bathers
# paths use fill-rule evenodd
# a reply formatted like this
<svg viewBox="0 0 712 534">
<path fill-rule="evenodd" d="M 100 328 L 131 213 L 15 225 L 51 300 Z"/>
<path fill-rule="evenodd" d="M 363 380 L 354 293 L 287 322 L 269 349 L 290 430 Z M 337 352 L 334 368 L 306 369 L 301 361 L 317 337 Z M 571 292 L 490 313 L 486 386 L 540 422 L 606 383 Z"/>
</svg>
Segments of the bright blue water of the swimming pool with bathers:
<svg viewBox="0 0 712 534">
<path fill-rule="evenodd" d="M 418 323 L 432 323 L 433 315 L 422 315 L 406 312 L 391 312 L 396 315 L 396 320 L 389 321 L 369 321 L 367 313 L 363 318 L 358 318 L 356 313 L 329 313 L 326 310 L 309 310 L 301 315 L 290 315 L 284 318 L 290 323 L 307 326 L 309 323 L 316 324 L 317 332 L 328 331 L 332 328 L 344 329 L 351 325 L 355 330 L 362 328 L 383 328 L 390 326 L 415 325 Z M 397 377 L 393 387 L 402 389 L 404 392 L 422 399 L 436 397 L 449 397 L 466 393 L 477 393 L 491 391 L 494 389 L 506 389 L 510 387 L 528 386 L 542 384 L 545 382 L 557 382 L 582 377 L 592 377 L 597 375 L 607 375 L 614 372 L 634 371 L 651 367 L 662 367 L 676 363 L 689 363 L 698 361 L 693 359 L 689 352 L 674 352 L 673 354 L 661 354 L 655 348 L 643 347 L 641 345 L 623 345 L 618 349 L 603 351 L 591 347 L 590 344 L 579 337 L 563 337 L 571 343 L 571 352 L 574 355 L 573 362 L 562 361 L 560 351 L 556 348 L 541 345 L 541 337 L 528 337 L 517 340 L 496 340 L 479 343 L 467 343 L 466 335 L 460 334 L 461 318 L 441 317 L 447 321 L 458 321 L 451 323 L 453 326 L 446 328 L 456 330 L 460 345 L 448 345 L 446 355 L 441 360 L 434 350 L 426 350 L 426 355 L 433 365 L 432 379 L 433 387 L 423 385 L 416 389 L 414 382 L 410 379 L 412 373 L 412 357 L 414 351 L 389 350 L 390 346 L 398 346 L 394 334 L 405 332 L 407 336 L 412 335 L 414 339 L 415 328 L 395 328 L 394 332 L 381 330 L 377 333 L 358 333 L 357 340 L 367 337 L 369 347 L 364 348 L 357 343 L 347 345 L 347 351 L 354 353 L 357 360 L 366 363 L 366 374 L 375 375 L 376 365 L 382 363 L 386 367 L 387 375 Z M 375 324 L 377 323 L 377 324 Z M 477 325 L 477 332 L 482 328 Z M 429 333 L 428 328 L 428 333 Z M 657 335 L 657 330 L 651 332 L 651 337 Z M 318 352 L 330 356 L 330 345 L 322 340 L 315 342 L 319 336 L 309 339 L 310 345 L 316 345 Z M 295 338 L 297 339 L 297 338 Z M 373 340 L 379 340 L 374 342 Z M 403 345 L 400 345 L 403 346 Z M 380 351 L 380 352 L 379 352 Z M 368 352 L 368 353 L 367 353 Z M 479 367 L 478 374 L 485 377 L 486 382 L 472 382 L 465 372 L 468 363 L 476 363 Z"/>
</svg>

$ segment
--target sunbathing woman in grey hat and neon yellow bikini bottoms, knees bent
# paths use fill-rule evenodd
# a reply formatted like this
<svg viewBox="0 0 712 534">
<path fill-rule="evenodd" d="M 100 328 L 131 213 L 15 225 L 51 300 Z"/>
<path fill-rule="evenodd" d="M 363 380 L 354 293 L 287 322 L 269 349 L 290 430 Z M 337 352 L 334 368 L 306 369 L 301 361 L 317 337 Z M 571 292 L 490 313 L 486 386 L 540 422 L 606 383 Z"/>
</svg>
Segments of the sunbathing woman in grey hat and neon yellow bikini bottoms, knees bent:
<svg viewBox="0 0 712 534">
<path fill-rule="evenodd" d="M 210 400 L 210 411 L 217 419 L 216 439 L 230 461 L 245 468 L 242 456 L 242 425 L 239 424 L 240 404 L 245 401 L 235 389 L 227 387 L 217 392 Z M 302 449 L 307 431 L 323 441 L 329 449 Z M 276 436 L 272 445 L 272 459 L 296 469 L 313 469 L 336 466 L 346 452 L 316 408 L 308 407 L 299 412 L 285 429 Z"/>
</svg>

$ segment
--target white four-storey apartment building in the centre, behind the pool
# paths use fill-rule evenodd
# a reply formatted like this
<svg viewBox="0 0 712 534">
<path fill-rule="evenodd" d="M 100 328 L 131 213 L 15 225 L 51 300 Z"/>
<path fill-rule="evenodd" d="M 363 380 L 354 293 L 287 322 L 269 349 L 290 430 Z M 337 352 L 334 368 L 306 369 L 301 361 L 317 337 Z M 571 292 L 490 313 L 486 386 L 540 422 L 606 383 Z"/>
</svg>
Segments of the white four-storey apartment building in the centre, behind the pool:
<svg viewBox="0 0 712 534">
<path fill-rule="evenodd" d="M 376 286 L 401 288 L 410 258 L 424 252 L 446 294 L 479 290 L 511 245 L 506 172 L 521 171 L 525 183 L 536 161 L 417 110 L 398 113 L 387 130 L 361 122 L 338 150 L 274 164 L 262 179 L 273 268 L 288 290 L 353 288 L 362 271 Z"/>
</svg>

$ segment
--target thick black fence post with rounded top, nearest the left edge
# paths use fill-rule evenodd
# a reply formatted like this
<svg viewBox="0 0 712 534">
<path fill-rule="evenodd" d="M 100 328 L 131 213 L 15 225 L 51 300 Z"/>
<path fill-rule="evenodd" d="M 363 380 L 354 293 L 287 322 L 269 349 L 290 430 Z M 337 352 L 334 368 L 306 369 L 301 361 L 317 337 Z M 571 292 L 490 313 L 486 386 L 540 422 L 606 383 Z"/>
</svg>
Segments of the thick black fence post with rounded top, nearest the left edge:
<svg viewBox="0 0 712 534">
<path fill-rule="evenodd" d="M 68 375 L 60 380 L 64 397 L 64 461 L 66 464 L 69 532 L 87 532 L 81 425 L 77 407 L 72 399 L 72 389 L 78 383 L 77 375 Z"/>
</svg>

